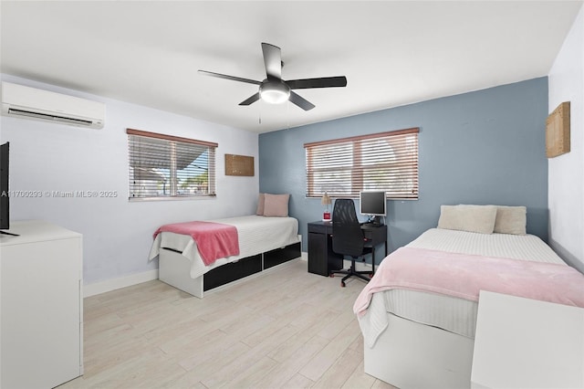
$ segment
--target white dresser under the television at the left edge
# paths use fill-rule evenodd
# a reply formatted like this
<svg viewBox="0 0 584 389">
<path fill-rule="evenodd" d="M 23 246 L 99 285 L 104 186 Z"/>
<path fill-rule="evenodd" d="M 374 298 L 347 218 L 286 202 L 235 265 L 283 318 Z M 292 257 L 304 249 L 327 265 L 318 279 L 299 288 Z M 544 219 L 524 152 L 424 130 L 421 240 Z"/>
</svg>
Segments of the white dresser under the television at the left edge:
<svg viewBox="0 0 584 389">
<path fill-rule="evenodd" d="M 0 387 L 50 388 L 83 373 L 82 236 L 42 221 L 0 235 Z"/>
</svg>

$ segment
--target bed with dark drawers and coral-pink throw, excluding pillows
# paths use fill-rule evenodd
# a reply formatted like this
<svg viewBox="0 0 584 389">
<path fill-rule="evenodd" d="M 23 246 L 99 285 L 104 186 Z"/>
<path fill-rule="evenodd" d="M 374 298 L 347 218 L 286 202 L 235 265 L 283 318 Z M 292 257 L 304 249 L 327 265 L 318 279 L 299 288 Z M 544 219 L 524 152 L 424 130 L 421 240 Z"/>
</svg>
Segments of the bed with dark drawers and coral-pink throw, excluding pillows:
<svg viewBox="0 0 584 389">
<path fill-rule="evenodd" d="M 205 290 L 300 257 L 294 217 L 236 216 L 160 226 L 150 259 L 159 279 L 203 298 Z"/>
</svg>

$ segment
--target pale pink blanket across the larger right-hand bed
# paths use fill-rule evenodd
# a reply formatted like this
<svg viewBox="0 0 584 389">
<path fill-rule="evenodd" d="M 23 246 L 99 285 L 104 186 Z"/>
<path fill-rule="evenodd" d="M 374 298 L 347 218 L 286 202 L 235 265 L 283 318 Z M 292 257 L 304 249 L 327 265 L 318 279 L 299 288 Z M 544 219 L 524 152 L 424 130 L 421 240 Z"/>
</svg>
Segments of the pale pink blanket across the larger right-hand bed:
<svg viewBox="0 0 584 389">
<path fill-rule="evenodd" d="M 385 258 L 355 301 L 363 315 L 373 293 L 411 289 L 478 301 L 479 291 L 584 307 L 584 275 L 567 265 L 401 247 Z"/>
</svg>

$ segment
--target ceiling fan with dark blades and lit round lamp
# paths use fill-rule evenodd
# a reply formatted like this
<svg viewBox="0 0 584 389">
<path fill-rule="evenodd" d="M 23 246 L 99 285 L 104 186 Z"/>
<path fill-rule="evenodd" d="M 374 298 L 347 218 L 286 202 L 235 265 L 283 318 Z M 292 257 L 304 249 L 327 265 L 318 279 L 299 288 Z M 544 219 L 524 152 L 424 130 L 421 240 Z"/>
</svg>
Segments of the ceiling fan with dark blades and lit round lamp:
<svg viewBox="0 0 584 389">
<path fill-rule="evenodd" d="M 219 79 L 231 79 L 234 81 L 245 82 L 248 84 L 259 85 L 259 91 L 239 105 L 250 105 L 257 100 L 265 100 L 269 103 L 277 104 L 290 100 L 303 110 L 312 110 L 315 105 L 310 101 L 300 97 L 292 89 L 311 89 L 311 88 L 334 88 L 346 87 L 347 78 L 339 77 L 321 77 L 318 79 L 282 79 L 282 54 L 280 47 L 262 43 L 262 52 L 264 54 L 264 64 L 266 66 L 266 79 L 256 81 L 255 79 L 242 79 L 240 77 L 227 76 L 225 74 L 214 73 L 212 71 L 199 70 L 199 73 L 206 76 L 217 77 Z"/>
</svg>

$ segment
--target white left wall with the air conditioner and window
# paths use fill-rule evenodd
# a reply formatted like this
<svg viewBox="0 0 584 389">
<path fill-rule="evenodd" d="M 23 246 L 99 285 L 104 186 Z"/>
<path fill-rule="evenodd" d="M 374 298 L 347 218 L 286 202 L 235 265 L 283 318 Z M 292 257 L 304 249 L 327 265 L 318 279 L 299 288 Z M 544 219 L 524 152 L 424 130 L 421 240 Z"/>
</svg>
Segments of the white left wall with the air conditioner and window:
<svg viewBox="0 0 584 389">
<path fill-rule="evenodd" d="M 11 219 L 44 219 L 83 234 L 85 284 L 158 268 L 148 261 L 152 233 L 162 224 L 255 213 L 259 188 L 255 132 L 194 120 L 32 80 L 2 79 L 106 103 L 102 130 L 2 116 L 0 142 L 10 142 L 12 191 L 117 191 L 115 198 L 13 196 Z M 217 197 L 182 201 L 128 201 L 126 128 L 217 142 Z M 255 158 L 253 177 L 224 175 L 224 154 Z M 34 269 L 31 269 L 34 270 Z"/>
</svg>

